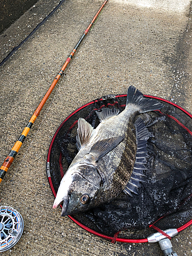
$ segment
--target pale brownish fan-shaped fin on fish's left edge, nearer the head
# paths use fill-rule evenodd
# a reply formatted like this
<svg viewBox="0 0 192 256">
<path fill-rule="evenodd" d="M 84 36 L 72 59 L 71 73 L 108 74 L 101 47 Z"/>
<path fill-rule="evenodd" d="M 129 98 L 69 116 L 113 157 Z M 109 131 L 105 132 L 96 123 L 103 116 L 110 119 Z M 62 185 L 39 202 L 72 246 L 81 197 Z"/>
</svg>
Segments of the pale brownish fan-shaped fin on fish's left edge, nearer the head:
<svg viewBox="0 0 192 256">
<path fill-rule="evenodd" d="M 91 124 L 83 118 L 79 118 L 76 136 L 76 146 L 78 150 L 80 150 L 80 148 L 83 145 L 86 145 L 90 141 L 91 137 L 93 136 L 93 133 L 94 129 L 91 126 Z"/>
</svg>

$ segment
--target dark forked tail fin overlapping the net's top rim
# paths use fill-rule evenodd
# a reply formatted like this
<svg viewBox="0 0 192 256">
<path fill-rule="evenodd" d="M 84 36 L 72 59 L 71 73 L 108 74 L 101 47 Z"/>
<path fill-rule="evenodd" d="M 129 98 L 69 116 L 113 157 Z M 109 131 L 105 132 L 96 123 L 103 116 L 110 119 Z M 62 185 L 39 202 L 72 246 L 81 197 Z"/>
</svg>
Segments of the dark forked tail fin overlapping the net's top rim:
<svg viewBox="0 0 192 256">
<path fill-rule="evenodd" d="M 126 106 L 129 104 L 137 105 L 139 113 L 163 108 L 163 104 L 156 99 L 145 98 L 134 86 L 130 86 L 127 91 Z"/>
</svg>

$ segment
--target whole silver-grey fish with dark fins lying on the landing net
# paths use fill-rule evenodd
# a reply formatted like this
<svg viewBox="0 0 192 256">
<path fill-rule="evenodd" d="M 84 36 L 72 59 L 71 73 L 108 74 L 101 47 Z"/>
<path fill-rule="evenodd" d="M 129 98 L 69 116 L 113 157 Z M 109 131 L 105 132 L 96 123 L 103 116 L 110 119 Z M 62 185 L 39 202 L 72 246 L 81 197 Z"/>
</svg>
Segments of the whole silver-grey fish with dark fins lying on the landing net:
<svg viewBox="0 0 192 256">
<path fill-rule="evenodd" d="M 139 114 L 162 107 L 130 86 L 121 113 L 109 108 L 96 112 L 100 120 L 96 129 L 85 119 L 78 119 L 79 151 L 60 182 L 53 204 L 56 208 L 63 202 L 62 217 L 108 204 L 122 191 L 132 197 L 138 194 L 150 137 Z"/>
</svg>

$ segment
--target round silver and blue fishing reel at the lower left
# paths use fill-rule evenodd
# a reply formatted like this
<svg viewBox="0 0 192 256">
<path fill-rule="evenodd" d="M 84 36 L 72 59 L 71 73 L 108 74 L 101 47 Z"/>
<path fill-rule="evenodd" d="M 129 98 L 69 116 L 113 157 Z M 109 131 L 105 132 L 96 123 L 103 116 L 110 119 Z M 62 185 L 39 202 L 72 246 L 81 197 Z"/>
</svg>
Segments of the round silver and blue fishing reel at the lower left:
<svg viewBox="0 0 192 256">
<path fill-rule="evenodd" d="M 0 252 L 13 247 L 24 230 L 24 221 L 18 211 L 10 206 L 0 207 Z"/>
</svg>

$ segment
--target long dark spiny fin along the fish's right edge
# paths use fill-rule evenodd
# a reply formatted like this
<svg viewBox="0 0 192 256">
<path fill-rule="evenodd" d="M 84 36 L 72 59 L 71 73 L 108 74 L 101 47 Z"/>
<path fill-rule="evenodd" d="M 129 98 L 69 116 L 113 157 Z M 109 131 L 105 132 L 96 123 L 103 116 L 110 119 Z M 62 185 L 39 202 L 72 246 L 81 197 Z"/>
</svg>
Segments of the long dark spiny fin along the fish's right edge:
<svg viewBox="0 0 192 256">
<path fill-rule="evenodd" d="M 138 118 L 135 122 L 136 139 L 137 139 L 137 152 L 135 158 L 135 164 L 133 172 L 129 182 L 126 184 L 123 192 L 126 195 L 133 197 L 132 193 L 138 195 L 138 188 L 141 186 L 140 182 L 144 182 L 143 170 L 146 169 L 144 164 L 146 163 L 147 149 L 146 143 L 150 137 L 150 133 L 144 125 L 141 118 Z"/>
</svg>

